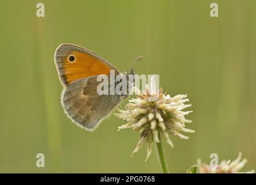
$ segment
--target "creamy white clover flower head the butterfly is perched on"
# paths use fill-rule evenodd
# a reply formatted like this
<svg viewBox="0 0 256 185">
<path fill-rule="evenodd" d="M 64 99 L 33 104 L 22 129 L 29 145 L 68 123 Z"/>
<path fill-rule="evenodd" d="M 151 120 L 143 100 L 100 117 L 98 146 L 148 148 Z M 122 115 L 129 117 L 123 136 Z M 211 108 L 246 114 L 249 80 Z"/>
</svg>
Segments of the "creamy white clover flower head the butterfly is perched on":
<svg viewBox="0 0 256 185">
<path fill-rule="evenodd" d="M 189 101 L 189 99 L 186 99 L 186 95 L 170 97 L 170 95 L 163 94 L 162 89 L 155 92 L 155 87 L 152 85 L 150 87 L 147 86 L 145 93 L 135 88 L 134 91 L 136 91 L 137 95 L 135 99 L 130 99 L 129 103 L 127 103 L 128 109 L 119 109 L 119 113 L 116 113 L 116 116 L 120 119 L 127 121 L 125 125 L 118 127 L 118 131 L 123 128 L 132 128 L 134 131 L 141 133 L 131 157 L 144 143 L 147 143 L 145 161 L 151 154 L 153 142 L 160 142 L 160 139 L 164 138 L 173 148 L 174 145 L 169 135 L 188 139 L 189 137 L 181 134 L 181 132 L 195 132 L 192 129 L 185 128 L 185 123 L 192 122 L 185 119 L 185 115 L 192 111 L 183 111 L 183 109 L 191 106 L 191 104 L 184 104 Z M 151 99 L 156 101 L 151 101 Z"/>
</svg>

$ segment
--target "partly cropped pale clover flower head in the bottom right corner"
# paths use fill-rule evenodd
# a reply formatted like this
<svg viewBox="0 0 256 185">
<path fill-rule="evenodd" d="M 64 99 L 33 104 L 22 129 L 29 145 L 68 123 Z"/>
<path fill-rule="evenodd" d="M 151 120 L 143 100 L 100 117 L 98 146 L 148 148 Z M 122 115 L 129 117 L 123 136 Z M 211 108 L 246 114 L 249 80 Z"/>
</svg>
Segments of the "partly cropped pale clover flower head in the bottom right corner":
<svg viewBox="0 0 256 185">
<path fill-rule="evenodd" d="M 242 153 L 239 153 L 238 157 L 234 161 L 231 162 L 231 160 L 224 160 L 221 161 L 221 164 L 218 166 L 202 164 L 202 162 L 198 160 L 198 173 L 254 173 L 254 170 L 239 172 L 246 162 L 246 158 L 242 160 Z"/>
</svg>

